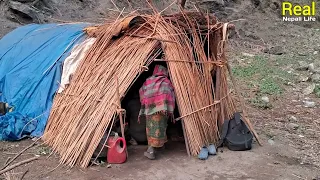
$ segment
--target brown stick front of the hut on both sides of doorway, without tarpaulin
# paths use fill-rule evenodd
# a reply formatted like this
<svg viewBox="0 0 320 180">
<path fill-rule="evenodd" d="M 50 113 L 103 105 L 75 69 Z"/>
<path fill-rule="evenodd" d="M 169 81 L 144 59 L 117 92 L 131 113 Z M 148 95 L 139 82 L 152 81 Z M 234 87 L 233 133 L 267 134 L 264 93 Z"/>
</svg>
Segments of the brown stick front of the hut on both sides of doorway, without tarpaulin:
<svg viewBox="0 0 320 180">
<path fill-rule="evenodd" d="M 220 47 L 222 27 L 214 17 L 182 12 L 87 29 L 97 40 L 70 86 L 55 97 L 45 142 L 61 155 L 61 163 L 86 167 L 121 109 L 117 94 L 123 98 L 160 52 L 175 87 L 187 149 L 196 155 L 217 142 L 218 126 L 235 112 Z"/>
</svg>

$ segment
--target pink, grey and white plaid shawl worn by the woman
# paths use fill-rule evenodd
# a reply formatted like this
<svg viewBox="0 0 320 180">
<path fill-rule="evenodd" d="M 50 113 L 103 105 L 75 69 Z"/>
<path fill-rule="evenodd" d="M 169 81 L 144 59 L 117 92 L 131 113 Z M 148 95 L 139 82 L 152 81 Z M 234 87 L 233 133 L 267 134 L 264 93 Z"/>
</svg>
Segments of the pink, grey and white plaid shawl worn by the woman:
<svg viewBox="0 0 320 180">
<path fill-rule="evenodd" d="M 140 117 L 158 112 L 173 115 L 175 106 L 174 88 L 168 79 L 168 71 L 164 66 L 156 65 L 150 76 L 139 90 L 141 109 Z"/>
</svg>

